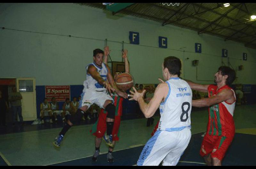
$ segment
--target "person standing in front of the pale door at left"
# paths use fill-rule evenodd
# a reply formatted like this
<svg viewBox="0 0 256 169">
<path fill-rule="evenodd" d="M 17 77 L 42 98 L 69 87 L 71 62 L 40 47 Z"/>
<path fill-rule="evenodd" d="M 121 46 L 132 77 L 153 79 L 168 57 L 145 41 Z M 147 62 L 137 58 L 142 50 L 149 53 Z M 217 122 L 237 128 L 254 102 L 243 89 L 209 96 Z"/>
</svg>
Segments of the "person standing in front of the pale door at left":
<svg viewBox="0 0 256 169">
<path fill-rule="evenodd" d="M 12 107 L 12 125 L 15 125 L 16 118 L 17 118 L 17 113 L 20 118 L 21 124 L 23 123 L 23 117 L 21 113 L 21 99 L 22 96 L 20 92 L 17 92 L 16 87 L 12 87 L 12 93 L 9 95 L 8 100 L 11 102 L 11 107 Z"/>
</svg>

